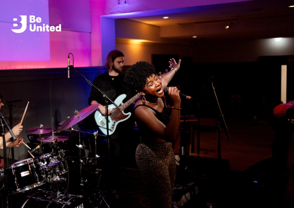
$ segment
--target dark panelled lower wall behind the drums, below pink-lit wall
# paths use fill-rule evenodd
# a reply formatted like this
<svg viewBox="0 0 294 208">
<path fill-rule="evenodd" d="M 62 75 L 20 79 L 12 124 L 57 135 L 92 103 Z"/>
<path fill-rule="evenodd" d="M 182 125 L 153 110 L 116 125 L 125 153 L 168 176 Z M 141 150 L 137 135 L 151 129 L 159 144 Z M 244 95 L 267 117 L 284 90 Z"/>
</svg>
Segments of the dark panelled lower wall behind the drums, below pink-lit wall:
<svg viewBox="0 0 294 208">
<path fill-rule="evenodd" d="M 76 68 L 85 77 L 93 82 L 97 75 L 106 71 L 104 67 Z M 22 99 L 13 105 L 13 126 L 21 121 L 27 102 L 29 102 L 24 117 L 24 130 L 20 136 L 29 143 L 26 129 L 39 126 L 52 126 L 72 116 L 75 110 L 81 110 L 88 106 L 91 86 L 76 72 L 71 72 L 70 79 L 67 78 L 67 70 L 61 69 L 32 69 L 32 70 L 1 70 L 0 92 L 5 100 Z M 9 109 L 7 104 L 3 112 L 9 122 Z M 74 126 L 77 129 L 77 126 Z M 14 148 L 15 159 L 30 158 L 28 148 L 21 145 Z M 3 152 L 1 152 L 2 154 Z"/>
</svg>

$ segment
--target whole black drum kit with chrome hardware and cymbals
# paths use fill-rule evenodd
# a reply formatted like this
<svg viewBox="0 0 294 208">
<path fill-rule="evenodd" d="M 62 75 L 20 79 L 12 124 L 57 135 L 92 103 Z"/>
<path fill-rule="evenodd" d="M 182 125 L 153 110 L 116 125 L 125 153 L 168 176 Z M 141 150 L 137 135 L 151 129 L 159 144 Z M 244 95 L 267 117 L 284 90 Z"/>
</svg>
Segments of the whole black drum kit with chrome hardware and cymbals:
<svg viewBox="0 0 294 208">
<path fill-rule="evenodd" d="M 88 132 L 81 131 L 81 120 L 83 120 L 88 115 L 90 115 L 93 111 L 95 111 L 98 105 L 99 104 L 95 104 L 95 105 L 88 106 L 81 111 L 74 111 L 74 115 L 71 117 L 68 117 L 66 121 L 61 122 L 61 126 L 58 129 L 59 131 L 64 131 L 65 129 L 69 128 L 70 131 L 79 132 L 79 144 L 76 146 L 79 149 L 79 166 L 80 166 L 80 178 L 81 178 L 80 185 L 82 188 L 86 181 L 83 180 L 83 175 L 82 175 L 83 157 L 81 156 L 81 152 L 82 152 L 83 146 L 81 143 L 81 133 L 88 133 Z M 78 130 L 74 130 L 72 128 L 74 124 L 78 124 Z M 64 194 L 62 194 L 59 190 L 59 183 L 66 182 L 66 178 L 63 177 L 62 175 L 64 173 L 69 173 L 69 166 L 66 161 L 64 150 L 59 148 L 58 142 L 66 141 L 69 139 L 69 137 L 56 136 L 54 134 L 56 133 L 54 132 L 55 130 L 56 130 L 55 128 L 46 127 L 43 125 L 40 125 L 39 127 L 27 129 L 26 133 L 40 135 L 40 137 L 37 138 L 37 140 L 40 141 L 41 144 L 39 144 L 36 148 L 30 151 L 30 154 L 32 155 L 32 153 L 40 149 L 39 156 L 34 157 L 32 155 L 33 158 L 20 160 L 14 163 L 13 165 L 10 165 L 9 168 L 7 169 L 8 184 L 9 184 L 8 193 L 7 193 L 8 195 L 30 190 L 32 188 L 39 187 L 45 183 L 49 183 L 51 184 L 52 187 L 55 187 L 55 192 L 38 189 L 38 192 L 35 192 L 31 195 L 27 195 L 27 197 L 29 198 L 24 202 L 21 208 L 30 207 L 30 204 L 32 202 L 35 203 L 36 201 L 42 201 L 42 203 L 48 202 L 47 203 L 48 207 L 49 207 L 49 204 L 51 204 L 52 207 L 72 207 L 72 206 L 83 207 L 84 206 L 83 204 L 76 205 L 76 203 L 73 203 L 72 206 L 69 206 L 76 199 L 82 198 L 81 195 L 66 194 L 69 184 L 67 184 L 67 188 Z M 42 134 L 50 133 L 50 132 L 52 132 L 51 136 L 41 136 Z M 105 136 L 105 135 L 98 135 L 98 131 L 95 133 L 89 133 L 89 134 L 93 134 L 95 138 L 95 158 L 92 158 L 92 159 L 95 160 L 95 163 L 96 163 L 95 172 L 96 172 L 97 181 L 99 184 L 101 175 L 99 175 L 99 169 L 97 169 L 97 159 L 99 158 L 99 156 L 97 155 L 96 139 L 97 139 L 97 136 Z M 49 147 L 52 148 L 52 151 L 50 153 L 44 154 L 43 152 L 44 148 L 42 148 L 44 144 L 48 144 Z M 4 175 L 3 170 L 1 170 L 0 188 L 4 187 L 3 175 Z M 98 187 L 97 187 L 97 190 L 98 190 Z M 45 197 L 44 195 L 46 195 L 47 197 Z M 103 194 L 101 192 L 97 191 L 96 195 L 98 195 L 99 197 L 101 196 L 100 197 L 101 202 L 102 200 L 104 200 L 104 197 L 102 196 Z M 31 199 L 32 202 L 29 202 L 29 199 Z M 78 201 L 78 202 L 81 202 L 81 201 Z M 99 204 L 99 202 L 97 203 Z M 105 204 L 107 205 L 106 202 Z M 109 206 L 107 205 L 107 207 Z"/>
</svg>

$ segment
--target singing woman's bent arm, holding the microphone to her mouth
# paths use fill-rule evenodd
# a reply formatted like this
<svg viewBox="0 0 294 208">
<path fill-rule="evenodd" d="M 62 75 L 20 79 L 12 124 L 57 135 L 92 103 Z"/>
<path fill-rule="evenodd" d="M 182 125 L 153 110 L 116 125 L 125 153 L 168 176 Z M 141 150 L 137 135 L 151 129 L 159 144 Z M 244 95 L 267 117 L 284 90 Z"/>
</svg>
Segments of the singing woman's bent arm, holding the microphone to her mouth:
<svg viewBox="0 0 294 208">
<path fill-rule="evenodd" d="M 180 108 L 181 99 L 179 96 L 180 90 L 176 87 L 169 87 L 168 94 L 173 100 L 173 107 Z M 180 111 L 178 109 L 172 109 L 171 118 L 165 126 L 161 121 L 159 121 L 154 113 L 148 107 L 140 106 L 135 109 L 135 117 L 137 120 L 141 121 L 146 127 L 155 133 L 159 138 L 165 141 L 174 141 L 177 137 L 177 133 L 180 127 Z"/>
</svg>

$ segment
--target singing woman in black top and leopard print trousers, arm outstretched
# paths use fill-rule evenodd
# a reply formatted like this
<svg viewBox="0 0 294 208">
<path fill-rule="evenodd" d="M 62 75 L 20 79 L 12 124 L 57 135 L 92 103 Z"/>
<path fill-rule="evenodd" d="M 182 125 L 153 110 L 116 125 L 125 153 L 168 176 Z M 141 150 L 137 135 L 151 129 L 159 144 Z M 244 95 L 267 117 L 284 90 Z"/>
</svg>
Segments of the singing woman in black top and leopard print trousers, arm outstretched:
<svg viewBox="0 0 294 208">
<path fill-rule="evenodd" d="M 173 106 L 171 117 L 162 101 L 164 88 L 180 68 L 181 60 L 169 61 L 171 71 L 159 79 L 155 67 L 140 61 L 126 72 L 124 82 L 141 94 L 134 114 L 141 142 L 136 150 L 136 163 L 145 183 L 152 207 L 170 208 L 176 178 L 175 155 L 172 141 L 180 126 L 181 99 L 176 87 L 168 88 Z"/>
</svg>

